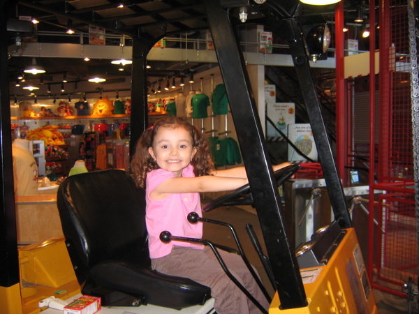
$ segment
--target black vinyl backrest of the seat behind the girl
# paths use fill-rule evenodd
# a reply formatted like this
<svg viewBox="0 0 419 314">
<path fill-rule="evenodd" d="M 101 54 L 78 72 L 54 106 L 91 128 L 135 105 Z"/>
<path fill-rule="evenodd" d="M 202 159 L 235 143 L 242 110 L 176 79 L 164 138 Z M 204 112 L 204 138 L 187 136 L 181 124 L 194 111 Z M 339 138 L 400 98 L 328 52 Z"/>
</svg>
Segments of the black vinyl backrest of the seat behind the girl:
<svg viewBox="0 0 419 314">
<path fill-rule="evenodd" d="M 123 170 L 75 174 L 59 186 L 57 207 L 80 284 L 89 268 L 105 260 L 149 265 L 145 190 Z"/>
</svg>

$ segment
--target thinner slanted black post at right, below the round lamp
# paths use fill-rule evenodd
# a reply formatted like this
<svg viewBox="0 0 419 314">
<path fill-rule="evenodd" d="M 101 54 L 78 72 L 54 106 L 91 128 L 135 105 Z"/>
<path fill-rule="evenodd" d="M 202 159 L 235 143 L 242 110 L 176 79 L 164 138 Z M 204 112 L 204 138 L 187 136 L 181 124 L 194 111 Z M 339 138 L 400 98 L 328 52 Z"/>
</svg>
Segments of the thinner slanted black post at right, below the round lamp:
<svg viewBox="0 0 419 314">
<path fill-rule="evenodd" d="M 281 30 L 293 34 L 292 40 L 288 41 L 294 67 L 297 71 L 300 88 L 310 118 L 311 131 L 318 152 L 318 159 L 321 162 L 323 176 L 328 186 L 330 203 L 332 204 L 335 220 L 344 228 L 352 226 L 348 207 L 346 206 L 344 188 L 341 184 L 335 158 L 330 147 L 328 133 L 321 114 L 320 103 L 316 94 L 316 87 L 311 76 L 309 61 L 304 47 L 302 32 L 295 19 L 285 20 L 281 24 Z M 279 31 L 278 31 L 279 32 Z"/>
</svg>

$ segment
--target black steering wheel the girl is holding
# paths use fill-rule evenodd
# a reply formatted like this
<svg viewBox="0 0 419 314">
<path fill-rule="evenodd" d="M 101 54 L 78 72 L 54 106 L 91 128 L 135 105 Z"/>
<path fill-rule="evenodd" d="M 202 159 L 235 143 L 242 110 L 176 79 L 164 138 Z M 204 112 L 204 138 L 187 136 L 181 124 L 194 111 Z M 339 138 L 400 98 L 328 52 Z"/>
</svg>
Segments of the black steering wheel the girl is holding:
<svg viewBox="0 0 419 314">
<path fill-rule="evenodd" d="M 295 172 L 300 170 L 301 165 L 296 163 L 281 168 L 274 172 L 274 177 L 277 179 L 277 185 L 281 186 L 284 182 L 291 178 Z M 203 206 L 203 211 L 212 211 L 221 206 L 235 206 L 235 205 L 251 205 L 254 207 L 253 197 L 250 192 L 250 185 L 245 184 L 244 186 L 233 190 L 233 192 L 221 195 L 212 202 L 209 202 Z"/>
</svg>

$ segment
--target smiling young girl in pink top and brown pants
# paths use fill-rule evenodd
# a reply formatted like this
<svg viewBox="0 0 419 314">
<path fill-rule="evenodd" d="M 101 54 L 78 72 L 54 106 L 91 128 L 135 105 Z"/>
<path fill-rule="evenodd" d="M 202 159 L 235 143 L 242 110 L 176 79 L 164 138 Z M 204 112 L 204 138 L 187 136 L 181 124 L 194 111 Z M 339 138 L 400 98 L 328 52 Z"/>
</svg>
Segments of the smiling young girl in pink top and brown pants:
<svg viewBox="0 0 419 314">
<path fill-rule="evenodd" d="M 274 166 L 274 170 L 289 165 Z M 146 188 L 146 223 L 152 268 L 163 274 L 190 278 L 211 288 L 217 313 L 258 313 L 258 308 L 230 281 L 211 248 L 182 241 L 163 243 L 162 231 L 201 239 L 202 223 L 187 216 L 202 216 L 201 192 L 235 190 L 247 184 L 244 167 L 215 170 L 203 134 L 180 118 L 156 121 L 140 137 L 131 162 L 138 186 Z M 269 304 L 239 255 L 220 251 L 230 272 L 264 308 Z"/>
</svg>

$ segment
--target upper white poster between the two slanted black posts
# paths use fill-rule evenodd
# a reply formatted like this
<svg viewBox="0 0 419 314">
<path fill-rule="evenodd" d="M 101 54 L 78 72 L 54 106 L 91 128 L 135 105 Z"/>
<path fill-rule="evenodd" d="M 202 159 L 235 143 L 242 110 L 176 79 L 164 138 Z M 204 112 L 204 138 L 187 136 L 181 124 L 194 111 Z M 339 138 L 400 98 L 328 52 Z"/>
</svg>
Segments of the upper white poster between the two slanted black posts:
<svg viewBox="0 0 419 314">
<path fill-rule="evenodd" d="M 295 104 L 267 103 L 266 116 L 274 123 L 274 126 L 272 126 L 270 121 L 266 121 L 267 140 L 284 140 L 281 132 L 287 136 L 288 125 L 295 124 Z"/>
</svg>

